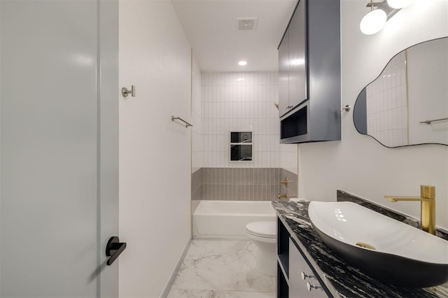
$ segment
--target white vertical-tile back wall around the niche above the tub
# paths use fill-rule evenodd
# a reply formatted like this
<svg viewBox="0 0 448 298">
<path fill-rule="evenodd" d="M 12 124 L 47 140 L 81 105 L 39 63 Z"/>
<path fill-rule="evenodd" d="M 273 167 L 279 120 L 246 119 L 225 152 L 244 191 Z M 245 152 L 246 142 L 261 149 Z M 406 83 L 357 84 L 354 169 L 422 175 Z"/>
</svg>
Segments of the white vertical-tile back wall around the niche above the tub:
<svg viewBox="0 0 448 298">
<path fill-rule="evenodd" d="M 202 150 L 208 168 L 279 168 L 276 72 L 202 73 Z M 230 161 L 230 131 L 253 132 L 251 162 Z"/>
</svg>

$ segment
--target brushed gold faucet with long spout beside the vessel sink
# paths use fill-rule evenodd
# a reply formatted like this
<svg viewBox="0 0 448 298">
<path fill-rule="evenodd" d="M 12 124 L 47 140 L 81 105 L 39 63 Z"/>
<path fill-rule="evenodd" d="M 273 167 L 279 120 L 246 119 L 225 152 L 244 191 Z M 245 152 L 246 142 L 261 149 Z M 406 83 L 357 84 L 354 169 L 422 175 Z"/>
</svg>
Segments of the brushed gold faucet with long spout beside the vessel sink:
<svg viewBox="0 0 448 298">
<path fill-rule="evenodd" d="M 421 229 L 435 235 L 435 186 L 420 185 L 420 197 L 384 196 L 389 201 L 421 201 Z"/>
</svg>

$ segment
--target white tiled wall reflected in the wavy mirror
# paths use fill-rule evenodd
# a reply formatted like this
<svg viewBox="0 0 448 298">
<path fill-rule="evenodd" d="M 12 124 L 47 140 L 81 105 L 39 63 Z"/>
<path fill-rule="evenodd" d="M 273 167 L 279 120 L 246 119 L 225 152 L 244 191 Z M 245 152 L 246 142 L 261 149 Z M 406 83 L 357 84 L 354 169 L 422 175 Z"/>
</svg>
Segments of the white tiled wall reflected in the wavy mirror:
<svg viewBox="0 0 448 298">
<path fill-rule="evenodd" d="M 390 147 L 408 145 L 406 51 L 366 91 L 367 134 Z"/>
</svg>

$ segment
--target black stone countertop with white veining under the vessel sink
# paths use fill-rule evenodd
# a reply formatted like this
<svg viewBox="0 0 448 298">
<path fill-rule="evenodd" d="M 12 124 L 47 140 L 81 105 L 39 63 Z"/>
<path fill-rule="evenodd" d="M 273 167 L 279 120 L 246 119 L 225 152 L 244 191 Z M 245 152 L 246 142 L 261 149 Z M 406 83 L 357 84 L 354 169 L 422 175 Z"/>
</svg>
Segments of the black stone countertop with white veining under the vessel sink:
<svg viewBox="0 0 448 298">
<path fill-rule="evenodd" d="M 431 288 L 400 287 L 377 281 L 351 267 L 314 232 L 308 205 L 307 201 L 272 202 L 290 236 L 299 244 L 334 297 L 448 297 L 448 283 Z"/>
</svg>

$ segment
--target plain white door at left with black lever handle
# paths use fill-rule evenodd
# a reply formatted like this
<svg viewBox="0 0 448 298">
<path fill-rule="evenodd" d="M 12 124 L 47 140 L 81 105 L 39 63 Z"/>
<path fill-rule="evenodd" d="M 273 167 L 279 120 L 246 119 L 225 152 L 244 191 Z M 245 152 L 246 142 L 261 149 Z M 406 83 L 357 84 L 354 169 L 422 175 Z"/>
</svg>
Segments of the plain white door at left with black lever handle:
<svg viewBox="0 0 448 298">
<path fill-rule="evenodd" d="M 118 1 L 1 0 L 0 66 L 0 297 L 117 297 Z"/>
</svg>

